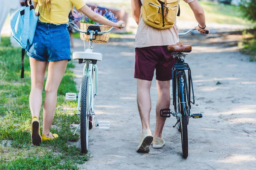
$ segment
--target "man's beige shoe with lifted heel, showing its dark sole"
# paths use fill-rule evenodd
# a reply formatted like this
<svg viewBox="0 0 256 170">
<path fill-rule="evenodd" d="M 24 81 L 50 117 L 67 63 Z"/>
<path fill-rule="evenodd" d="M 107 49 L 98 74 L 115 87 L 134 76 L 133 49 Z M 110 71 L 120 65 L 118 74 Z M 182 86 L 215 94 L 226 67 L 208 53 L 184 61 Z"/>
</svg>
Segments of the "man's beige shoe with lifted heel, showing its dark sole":
<svg viewBox="0 0 256 170">
<path fill-rule="evenodd" d="M 149 152 L 149 146 L 153 140 L 152 133 L 149 129 L 146 129 L 144 133 L 142 133 L 140 137 L 140 143 L 137 147 L 137 152 Z"/>
</svg>

